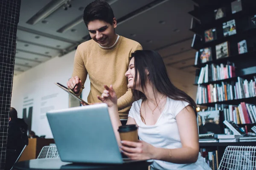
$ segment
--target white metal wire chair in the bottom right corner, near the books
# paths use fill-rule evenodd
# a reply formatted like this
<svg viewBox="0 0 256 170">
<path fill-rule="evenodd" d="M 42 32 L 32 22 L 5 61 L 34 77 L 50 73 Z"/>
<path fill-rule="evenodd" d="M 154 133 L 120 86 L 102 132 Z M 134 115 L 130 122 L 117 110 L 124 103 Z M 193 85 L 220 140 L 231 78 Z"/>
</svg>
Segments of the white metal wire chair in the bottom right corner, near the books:
<svg viewBox="0 0 256 170">
<path fill-rule="evenodd" d="M 218 170 L 256 170 L 256 146 L 228 146 Z"/>
</svg>

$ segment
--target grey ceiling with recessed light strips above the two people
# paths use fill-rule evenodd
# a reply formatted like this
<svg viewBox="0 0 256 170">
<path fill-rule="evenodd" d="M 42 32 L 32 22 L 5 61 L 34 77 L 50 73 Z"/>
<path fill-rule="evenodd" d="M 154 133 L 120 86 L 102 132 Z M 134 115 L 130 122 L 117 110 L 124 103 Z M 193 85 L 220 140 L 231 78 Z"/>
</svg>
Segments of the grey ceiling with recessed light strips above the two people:
<svg viewBox="0 0 256 170">
<path fill-rule="evenodd" d="M 68 3 L 67 3 L 68 1 Z M 15 75 L 76 49 L 90 36 L 82 20 L 93 0 L 22 0 L 17 28 Z M 118 25 L 116 33 L 157 50 L 166 66 L 193 73 L 195 50 L 189 31 L 192 0 L 107 0 Z M 35 24 L 28 21 L 49 3 L 62 4 Z M 65 4 L 66 3 L 66 4 Z M 71 4 L 71 7 L 67 7 Z M 64 7 L 67 7 L 65 10 Z"/>
</svg>

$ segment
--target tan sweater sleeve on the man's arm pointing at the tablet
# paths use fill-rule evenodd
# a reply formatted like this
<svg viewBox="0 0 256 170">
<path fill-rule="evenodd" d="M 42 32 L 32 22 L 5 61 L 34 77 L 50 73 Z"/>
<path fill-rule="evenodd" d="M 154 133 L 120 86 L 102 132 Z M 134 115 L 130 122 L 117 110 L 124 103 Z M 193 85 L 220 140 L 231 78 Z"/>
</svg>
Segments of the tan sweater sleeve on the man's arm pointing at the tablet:
<svg viewBox="0 0 256 170">
<path fill-rule="evenodd" d="M 73 74 L 72 77 L 78 76 L 81 79 L 82 82 L 82 88 L 80 89 L 79 93 L 76 94 L 76 96 L 80 96 L 82 93 L 82 90 L 84 89 L 84 82 L 87 78 L 87 70 L 85 68 L 85 61 L 81 57 L 79 46 L 76 49 L 75 58 L 74 58 L 74 68 L 73 68 Z"/>
</svg>

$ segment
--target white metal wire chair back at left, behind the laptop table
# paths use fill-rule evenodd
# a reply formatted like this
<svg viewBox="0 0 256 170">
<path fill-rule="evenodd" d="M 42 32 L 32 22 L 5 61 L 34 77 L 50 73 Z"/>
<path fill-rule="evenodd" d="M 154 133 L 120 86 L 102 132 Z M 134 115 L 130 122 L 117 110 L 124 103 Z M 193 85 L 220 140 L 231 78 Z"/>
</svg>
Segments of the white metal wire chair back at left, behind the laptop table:
<svg viewBox="0 0 256 170">
<path fill-rule="evenodd" d="M 43 158 L 58 158 L 60 157 L 58 154 L 58 150 L 56 146 L 44 146 L 37 159 L 43 159 Z"/>
</svg>

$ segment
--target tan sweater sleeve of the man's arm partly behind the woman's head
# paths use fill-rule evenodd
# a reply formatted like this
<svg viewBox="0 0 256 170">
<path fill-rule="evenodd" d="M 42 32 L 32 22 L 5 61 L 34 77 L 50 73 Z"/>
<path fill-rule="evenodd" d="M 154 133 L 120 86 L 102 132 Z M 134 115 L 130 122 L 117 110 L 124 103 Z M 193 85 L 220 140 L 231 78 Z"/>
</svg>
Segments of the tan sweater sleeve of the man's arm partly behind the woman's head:
<svg viewBox="0 0 256 170">
<path fill-rule="evenodd" d="M 133 53 L 136 50 L 142 50 L 142 46 L 140 44 L 137 45 L 136 48 L 134 48 L 131 51 L 131 53 Z M 129 57 L 131 57 L 131 56 L 129 56 Z M 133 102 L 133 99 L 132 99 L 131 89 L 128 88 L 126 93 L 124 95 L 122 95 L 121 97 L 119 97 L 119 99 L 117 99 L 118 110 L 121 110 L 121 109 L 126 108 L 128 106 L 131 106 L 132 102 Z"/>
</svg>

